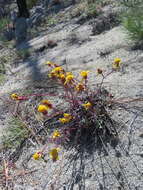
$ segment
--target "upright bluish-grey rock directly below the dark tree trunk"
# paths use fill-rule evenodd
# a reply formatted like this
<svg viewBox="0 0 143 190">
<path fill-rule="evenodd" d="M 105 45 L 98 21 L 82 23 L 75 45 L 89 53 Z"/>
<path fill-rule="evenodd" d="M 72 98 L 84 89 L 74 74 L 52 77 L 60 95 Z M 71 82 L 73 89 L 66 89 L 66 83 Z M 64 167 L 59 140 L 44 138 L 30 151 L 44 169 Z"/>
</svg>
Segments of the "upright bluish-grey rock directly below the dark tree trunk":
<svg viewBox="0 0 143 190">
<path fill-rule="evenodd" d="M 20 17 L 15 22 L 15 38 L 17 44 L 23 42 L 27 37 L 27 22 L 24 17 Z"/>
</svg>

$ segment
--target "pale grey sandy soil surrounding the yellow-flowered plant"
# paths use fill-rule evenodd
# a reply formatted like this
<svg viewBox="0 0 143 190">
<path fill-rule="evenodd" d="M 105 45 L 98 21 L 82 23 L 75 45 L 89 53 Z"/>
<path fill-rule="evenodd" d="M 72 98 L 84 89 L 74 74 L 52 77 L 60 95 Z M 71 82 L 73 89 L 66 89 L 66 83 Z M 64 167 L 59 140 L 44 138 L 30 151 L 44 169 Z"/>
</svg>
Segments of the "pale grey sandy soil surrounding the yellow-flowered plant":
<svg viewBox="0 0 143 190">
<path fill-rule="evenodd" d="M 112 10 L 106 7 L 105 11 Z M 93 22 L 93 21 L 92 21 Z M 31 55 L 23 62 L 12 66 L 13 74 L 7 74 L 6 81 L 0 90 L 0 135 L 7 128 L 11 116 L 12 101 L 9 95 L 12 92 L 31 90 L 46 93 L 51 91 L 51 84 L 47 79 L 48 60 L 62 65 L 68 71 L 77 74 L 81 70 L 89 70 L 90 85 L 94 87 L 101 81 L 95 77 L 96 69 L 111 70 L 114 58 L 120 57 L 123 64 L 120 71 L 113 73 L 105 80 L 105 88 L 116 99 L 143 97 L 143 51 L 132 50 L 132 43 L 128 40 L 122 26 L 114 26 L 93 35 L 93 24 L 87 21 L 83 24 L 61 23 L 36 37 L 19 48 L 29 48 Z M 41 37 L 42 36 L 42 37 Z M 57 46 L 49 48 L 49 40 L 54 40 Z M 55 84 L 56 86 L 56 84 Z M 60 89 L 54 89 L 60 92 Z M 7 105 L 7 101 L 9 105 Z M 61 100 L 53 100 L 60 102 Z M 14 190 L 142 190 L 143 189 L 143 112 L 142 102 L 134 102 L 132 112 L 122 109 L 114 110 L 112 117 L 121 121 L 124 126 L 119 133 L 119 142 L 116 146 L 107 144 L 108 154 L 95 151 L 91 155 L 79 154 L 75 150 L 60 152 L 60 160 L 52 163 L 34 161 L 31 155 L 43 145 L 34 144 L 25 147 L 17 160 L 16 168 L 33 173 L 17 177 L 14 181 Z M 139 106 L 140 110 L 135 110 Z M 132 125 L 133 123 L 133 125 Z M 132 129 L 132 130 L 131 130 Z M 131 144 L 128 150 L 129 132 Z M 52 144 L 48 144 L 48 148 Z M 75 155 L 75 157 L 74 157 Z"/>
</svg>

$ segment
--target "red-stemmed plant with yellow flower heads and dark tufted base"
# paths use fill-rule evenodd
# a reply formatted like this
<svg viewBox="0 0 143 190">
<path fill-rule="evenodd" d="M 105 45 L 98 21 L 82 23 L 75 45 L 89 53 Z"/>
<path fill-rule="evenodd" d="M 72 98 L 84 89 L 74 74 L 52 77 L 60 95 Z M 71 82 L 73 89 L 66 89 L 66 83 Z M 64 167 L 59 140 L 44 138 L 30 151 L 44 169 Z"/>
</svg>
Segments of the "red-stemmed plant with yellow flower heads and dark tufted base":
<svg viewBox="0 0 143 190">
<path fill-rule="evenodd" d="M 37 111 L 46 118 L 45 127 L 50 127 L 51 120 L 49 122 L 49 118 L 56 116 L 57 125 L 54 130 L 51 129 L 52 134 L 49 138 L 49 141 L 56 145 L 49 151 L 53 161 L 59 159 L 59 148 L 57 147 L 59 144 L 64 147 L 80 147 L 83 144 L 85 146 L 89 141 L 94 141 L 95 137 L 98 139 L 99 134 L 110 136 L 112 133 L 116 133 L 106 109 L 113 96 L 103 88 L 103 82 L 108 75 L 120 69 L 120 58 L 114 60 L 109 73 L 103 72 L 100 68 L 96 70 L 96 77 L 100 75 L 102 80 L 94 89 L 89 87 L 91 71 L 80 71 L 77 77 L 51 61 L 46 62 L 46 65 L 51 68 L 48 77 L 56 80 L 62 86 L 62 97 L 68 103 L 66 110 L 57 109 L 51 100 L 47 99 L 43 99 L 37 106 Z M 17 94 L 12 94 L 11 98 L 16 101 L 27 99 L 27 97 Z M 33 154 L 33 159 L 44 159 L 44 149 Z"/>
</svg>

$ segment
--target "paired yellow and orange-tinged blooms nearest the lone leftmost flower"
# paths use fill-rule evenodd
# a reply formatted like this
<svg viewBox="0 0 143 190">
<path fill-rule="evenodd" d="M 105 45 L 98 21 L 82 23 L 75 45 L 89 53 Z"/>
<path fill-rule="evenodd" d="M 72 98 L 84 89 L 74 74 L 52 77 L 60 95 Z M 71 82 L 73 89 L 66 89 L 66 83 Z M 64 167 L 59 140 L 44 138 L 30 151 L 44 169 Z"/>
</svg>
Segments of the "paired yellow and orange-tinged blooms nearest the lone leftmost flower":
<svg viewBox="0 0 143 190">
<path fill-rule="evenodd" d="M 38 106 L 38 112 L 47 114 L 48 110 L 52 109 L 52 104 L 49 100 L 42 100 L 41 104 Z"/>
</svg>

